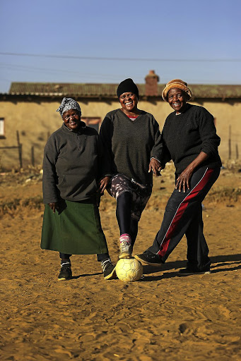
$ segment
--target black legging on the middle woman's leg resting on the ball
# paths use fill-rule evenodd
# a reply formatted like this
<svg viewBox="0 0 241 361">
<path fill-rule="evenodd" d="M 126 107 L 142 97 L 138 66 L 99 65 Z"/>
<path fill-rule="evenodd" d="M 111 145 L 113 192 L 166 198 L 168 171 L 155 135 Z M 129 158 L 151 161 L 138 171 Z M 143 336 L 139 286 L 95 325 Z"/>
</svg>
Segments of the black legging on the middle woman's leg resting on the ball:
<svg viewBox="0 0 241 361">
<path fill-rule="evenodd" d="M 138 221 L 131 218 L 132 195 L 130 192 L 123 192 L 117 198 L 117 222 L 120 235 L 128 233 L 131 235 L 131 245 L 134 246 L 138 233 Z"/>
</svg>

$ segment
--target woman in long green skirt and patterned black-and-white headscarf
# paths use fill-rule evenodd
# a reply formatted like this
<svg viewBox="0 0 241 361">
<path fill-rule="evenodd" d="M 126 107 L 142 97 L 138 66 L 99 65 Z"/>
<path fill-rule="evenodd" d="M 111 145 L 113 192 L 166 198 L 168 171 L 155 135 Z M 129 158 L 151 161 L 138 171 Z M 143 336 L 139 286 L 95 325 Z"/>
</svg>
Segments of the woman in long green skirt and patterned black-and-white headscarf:
<svg viewBox="0 0 241 361">
<path fill-rule="evenodd" d="M 64 98 L 57 111 L 64 123 L 45 146 L 41 248 L 59 251 L 59 280 L 71 279 L 73 254 L 97 254 L 105 279 L 114 279 L 98 209 L 100 193 L 110 180 L 98 133 L 81 121 L 81 107 L 74 99 Z"/>
</svg>

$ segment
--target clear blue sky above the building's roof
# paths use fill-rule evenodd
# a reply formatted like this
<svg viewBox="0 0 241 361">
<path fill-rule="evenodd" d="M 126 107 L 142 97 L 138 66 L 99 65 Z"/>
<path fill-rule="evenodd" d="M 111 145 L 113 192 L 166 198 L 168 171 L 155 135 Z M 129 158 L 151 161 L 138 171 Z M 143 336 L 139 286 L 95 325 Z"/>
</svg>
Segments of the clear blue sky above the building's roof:
<svg viewBox="0 0 241 361">
<path fill-rule="evenodd" d="M 240 0 L 0 0 L 0 92 L 13 81 L 144 82 L 151 69 L 160 82 L 241 84 L 240 10 Z"/>
</svg>

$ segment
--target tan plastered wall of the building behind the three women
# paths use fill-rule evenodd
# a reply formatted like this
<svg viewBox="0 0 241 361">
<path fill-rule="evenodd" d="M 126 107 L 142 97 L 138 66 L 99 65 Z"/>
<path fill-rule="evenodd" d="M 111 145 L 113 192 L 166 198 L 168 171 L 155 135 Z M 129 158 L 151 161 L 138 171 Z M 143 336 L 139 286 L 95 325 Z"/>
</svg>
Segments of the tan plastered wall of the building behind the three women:
<svg viewBox="0 0 241 361">
<path fill-rule="evenodd" d="M 78 100 L 84 117 L 100 117 L 103 119 L 108 111 L 119 108 L 117 101 Z M 42 153 L 47 138 L 61 126 L 61 117 L 56 109 L 57 101 L 26 102 L 1 101 L 0 118 L 4 118 L 5 138 L 0 139 L 0 147 L 17 145 L 16 130 L 23 144 L 23 166 L 31 164 L 31 148 L 34 147 L 35 165 L 42 164 Z M 241 102 L 204 101 L 192 104 L 204 106 L 216 118 L 217 133 L 221 137 L 219 148 L 221 157 L 228 159 L 228 139 L 231 130 L 232 158 L 236 157 L 236 145 L 241 154 L 240 114 Z M 163 102 L 140 101 L 139 109 L 146 110 L 155 116 L 163 127 L 165 118 L 172 109 Z M 241 157 L 241 155 L 240 155 Z M 19 166 L 18 149 L 0 149 L 0 168 L 12 169 Z"/>
</svg>

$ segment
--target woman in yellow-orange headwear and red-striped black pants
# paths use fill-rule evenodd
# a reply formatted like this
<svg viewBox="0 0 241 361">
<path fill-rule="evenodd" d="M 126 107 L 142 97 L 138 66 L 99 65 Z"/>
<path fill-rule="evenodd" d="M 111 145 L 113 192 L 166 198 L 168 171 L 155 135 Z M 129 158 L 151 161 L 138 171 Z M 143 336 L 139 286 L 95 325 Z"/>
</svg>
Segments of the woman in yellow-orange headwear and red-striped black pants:
<svg viewBox="0 0 241 361">
<path fill-rule="evenodd" d="M 172 159 L 176 185 L 153 245 L 135 257 L 143 264 L 160 266 L 185 234 L 187 268 L 181 269 L 180 274 L 209 273 L 211 260 L 203 233 L 201 202 L 220 173 L 220 137 L 216 135 L 213 116 L 202 106 L 187 103 L 192 98 L 187 82 L 167 82 L 162 96 L 174 111 L 163 127 L 160 161 L 163 169 Z"/>
</svg>

